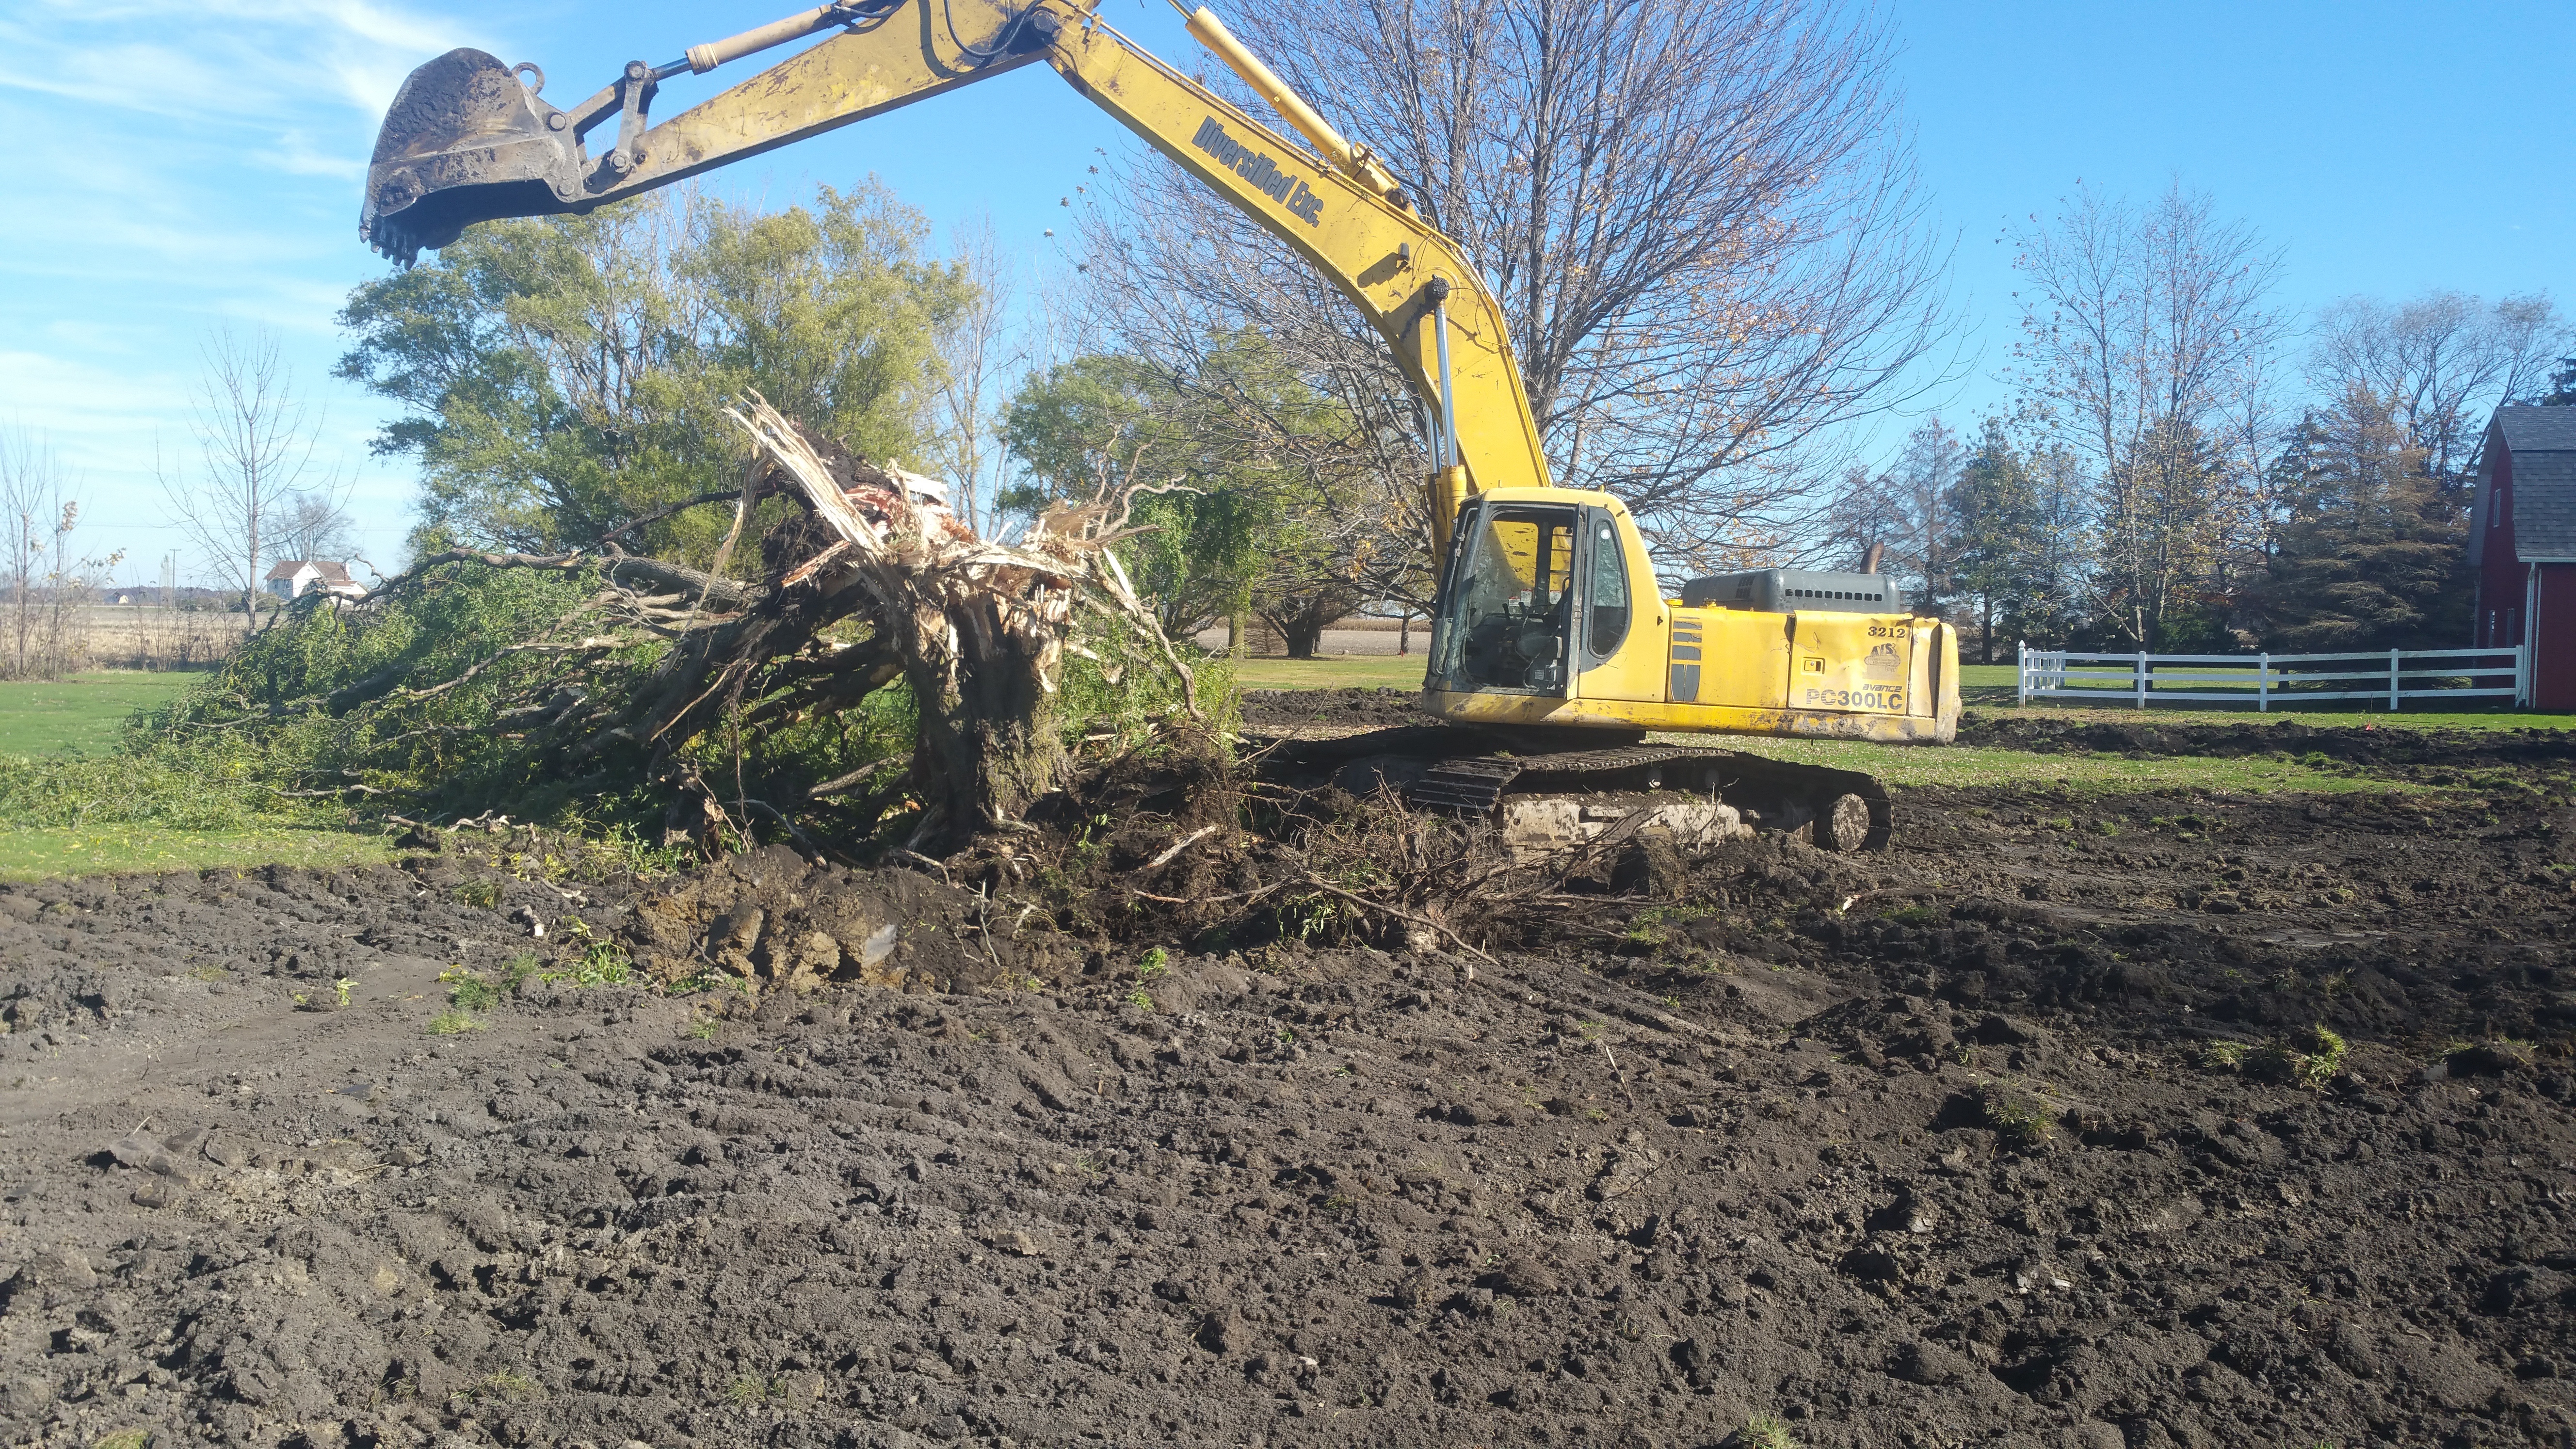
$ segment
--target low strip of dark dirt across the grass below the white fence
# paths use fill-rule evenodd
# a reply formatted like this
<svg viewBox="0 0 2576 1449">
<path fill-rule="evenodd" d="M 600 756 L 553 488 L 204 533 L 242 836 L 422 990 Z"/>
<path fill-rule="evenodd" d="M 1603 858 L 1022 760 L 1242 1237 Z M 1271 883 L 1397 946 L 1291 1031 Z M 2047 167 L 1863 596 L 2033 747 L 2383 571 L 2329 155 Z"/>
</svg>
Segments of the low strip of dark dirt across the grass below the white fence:
<svg viewBox="0 0 2576 1449">
<path fill-rule="evenodd" d="M 1968 712 L 1960 745 L 2102 755 L 2324 755 L 2349 766 L 2566 766 L 2571 730 L 2414 730 L 2375 724 L 2313 727 L 2280 722 L 2063 719 Z"/>
</svg>

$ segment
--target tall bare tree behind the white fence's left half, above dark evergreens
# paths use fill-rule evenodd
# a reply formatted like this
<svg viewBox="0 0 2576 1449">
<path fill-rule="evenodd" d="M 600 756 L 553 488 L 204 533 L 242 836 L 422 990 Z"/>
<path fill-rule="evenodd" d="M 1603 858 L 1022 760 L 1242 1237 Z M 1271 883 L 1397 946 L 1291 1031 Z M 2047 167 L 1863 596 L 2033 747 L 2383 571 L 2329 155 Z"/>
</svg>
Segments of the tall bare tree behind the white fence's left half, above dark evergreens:
<svg viewBox="0 0 2576 1449">
<path fill-rule="evenodd" d="M 2280 258 L 2179 183 L 2143 209 L 2079 191 L 2017 242 L 2030 423 L 2092 474 L 2094 606 L 2154 650 L 2259 534 Z"/>
</svg>

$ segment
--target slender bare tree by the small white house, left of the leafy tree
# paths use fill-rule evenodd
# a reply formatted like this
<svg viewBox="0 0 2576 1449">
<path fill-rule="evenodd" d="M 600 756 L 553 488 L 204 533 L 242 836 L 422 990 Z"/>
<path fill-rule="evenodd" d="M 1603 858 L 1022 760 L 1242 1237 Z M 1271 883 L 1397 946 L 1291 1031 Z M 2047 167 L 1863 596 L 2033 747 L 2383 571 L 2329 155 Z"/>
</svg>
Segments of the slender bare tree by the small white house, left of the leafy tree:
<svg viewBox="0 0 2576 1449">
<path fill-rule="evenodd" d="M 165 472 L 160 485 L 170 518 L 214 578 L 240 585 L 247 637 L 260 629 L 260 562 L 276 557 L 278 526 L 307 492 L 319 418 L 296 397 L 294 371 L 265 327 L 247 338 L 219 327 L 201 356 L 198 472 L 193 482 Z"/>
</svg>

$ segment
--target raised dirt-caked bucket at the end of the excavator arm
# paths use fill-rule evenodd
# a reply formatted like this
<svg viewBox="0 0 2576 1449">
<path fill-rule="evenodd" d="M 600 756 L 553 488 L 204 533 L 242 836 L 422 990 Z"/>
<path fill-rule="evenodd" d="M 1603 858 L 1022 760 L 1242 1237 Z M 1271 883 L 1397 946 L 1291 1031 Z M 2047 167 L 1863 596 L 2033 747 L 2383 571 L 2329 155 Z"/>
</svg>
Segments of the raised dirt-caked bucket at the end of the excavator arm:
<svg viewBox="0 0 2576 1449">
<path fill-rule="evenodd" d="M 415 70 L 376 131 L 358 235 L 410 266 L 474 222 L 572 211 L 580 142 L 497 57 L 453 49 Z"/>
</svg>

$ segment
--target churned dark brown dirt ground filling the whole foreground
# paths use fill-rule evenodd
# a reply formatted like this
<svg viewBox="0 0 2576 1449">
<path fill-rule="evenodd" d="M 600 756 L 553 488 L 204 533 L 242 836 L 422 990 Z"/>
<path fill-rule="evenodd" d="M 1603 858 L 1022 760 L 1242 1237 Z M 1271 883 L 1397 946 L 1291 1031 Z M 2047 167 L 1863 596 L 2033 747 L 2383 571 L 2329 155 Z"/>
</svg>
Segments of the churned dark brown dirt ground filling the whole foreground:
<svg viewBox="0 0 2576 1449">
<path fill-rule="evenodd" d="M 2576 1444 L 2566 745 L 2277 748 L 2411 789 L 1901 792 L 1497 962 L 783 851 L 0 890 L 0 1426 Z"/>
</svg>

